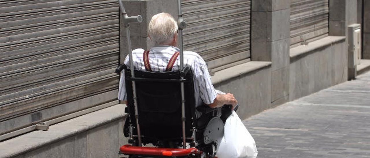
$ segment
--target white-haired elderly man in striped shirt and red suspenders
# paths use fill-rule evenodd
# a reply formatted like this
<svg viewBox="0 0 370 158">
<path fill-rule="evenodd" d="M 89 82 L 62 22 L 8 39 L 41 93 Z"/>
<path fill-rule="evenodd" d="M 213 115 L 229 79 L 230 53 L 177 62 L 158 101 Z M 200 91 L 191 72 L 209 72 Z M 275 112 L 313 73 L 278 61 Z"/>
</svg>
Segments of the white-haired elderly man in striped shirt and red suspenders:
<svg viewBox="0 0 370 158">
<path fill-rule="evenodd" d="M 135 49 L 132 51 L 134 68 L 138 70 L 163 72 L 179 71 L 180 60 L 178 57 L 179 49 L 177 45 L 178 25 L 174 18 L 168 13 L 159 13 L 152 17 L 149 23 L 149 38 L 155 46 L 150 51 Z M 168 68 L 170 60 L 175 60 L 174 66 Z M 144 64 L 145 63 L 145 64 Z M 128 56 L 125 64 L 129 66 Z M 238 103 L 235 97 L 230 94 L 216 93 L 212 85 L 205 61 L 195 52 L 184 51 L 184 66 L 189 66 L 194 76 L 195 106 L 208 105 L 209 107 L 222 107 L 231 104 L 233 107 Z M 122 73 L 124 73 L 122 71 Z M 118 99 L 127 103 L 125 79 L 122 75 Z"/>
</svg>

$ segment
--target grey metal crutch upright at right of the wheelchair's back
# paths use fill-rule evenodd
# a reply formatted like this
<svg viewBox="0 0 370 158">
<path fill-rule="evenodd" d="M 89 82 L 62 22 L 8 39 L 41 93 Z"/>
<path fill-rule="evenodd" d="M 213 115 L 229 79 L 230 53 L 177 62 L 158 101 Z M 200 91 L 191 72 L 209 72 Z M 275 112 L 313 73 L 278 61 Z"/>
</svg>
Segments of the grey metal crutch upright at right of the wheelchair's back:
<svg viewBox="0 0 370 158">
<path fill-rule="evenodd" d="M 181 11 L 181 0 L 177 0 L 179 17 L 178 17 L 178 29 L 179 29 L 179 45 L 180 45 L 180 71 L 184 69 L 184 50 L 182 43 L 182 29 L 186 27 L 186 22 L 182 19 Z M 181 75 L 181 79 L 184 79 L 184 76 Z M 185 91 L 184 91 L 184 82 L 181 82 L 181 121 L 182 121 L 182 148 L 186 148 L 186 138 L 185 138 Z"/>
</svg>

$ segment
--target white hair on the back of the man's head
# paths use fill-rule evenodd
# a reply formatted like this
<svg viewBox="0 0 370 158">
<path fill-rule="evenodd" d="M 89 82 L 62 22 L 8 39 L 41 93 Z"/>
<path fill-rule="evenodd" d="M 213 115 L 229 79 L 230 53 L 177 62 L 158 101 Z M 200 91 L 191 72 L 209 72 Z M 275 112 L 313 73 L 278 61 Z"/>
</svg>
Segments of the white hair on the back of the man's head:
<svg viewBox="0 0 370 158">
<path fill-rule="evenodd" d="M 168 13 L 155 14 L 149 23 L 149 36 L 155 45 L 169 44 L 176 35 L 178 26 Z"/>
</svg>

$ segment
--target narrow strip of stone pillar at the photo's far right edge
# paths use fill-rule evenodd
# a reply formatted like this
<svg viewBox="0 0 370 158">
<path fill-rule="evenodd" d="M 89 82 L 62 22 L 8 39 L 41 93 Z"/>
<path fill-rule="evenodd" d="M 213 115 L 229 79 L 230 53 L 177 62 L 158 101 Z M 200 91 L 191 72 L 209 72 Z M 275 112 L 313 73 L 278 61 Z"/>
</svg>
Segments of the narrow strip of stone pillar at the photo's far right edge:
<svg viewBox="0 0 370 158">
<path fill-rule="evenodd" d="M 363 59 L 370 59 L 370 1 L 363 1 Z"/>
</svg>

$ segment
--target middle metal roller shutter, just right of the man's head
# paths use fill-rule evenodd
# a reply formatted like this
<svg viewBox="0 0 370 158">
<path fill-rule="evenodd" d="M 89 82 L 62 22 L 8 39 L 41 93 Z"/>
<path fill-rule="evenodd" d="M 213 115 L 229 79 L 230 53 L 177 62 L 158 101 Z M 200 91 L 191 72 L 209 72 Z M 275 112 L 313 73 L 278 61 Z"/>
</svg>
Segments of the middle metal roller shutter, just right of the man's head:
<svg viewBox="0 0 370 158">
<path fill-rule="evenodd" d="M 250 0 L 182 0 L 184 50 L 209 69 L 250 58 Z"/>
</svg>

